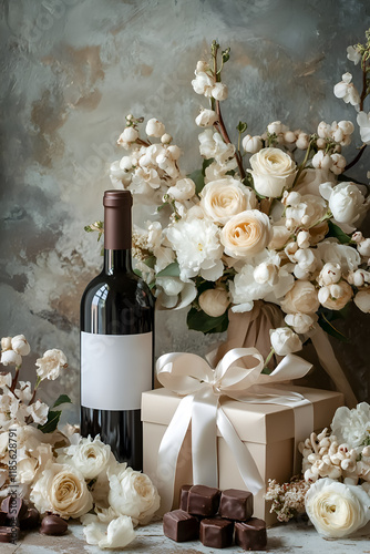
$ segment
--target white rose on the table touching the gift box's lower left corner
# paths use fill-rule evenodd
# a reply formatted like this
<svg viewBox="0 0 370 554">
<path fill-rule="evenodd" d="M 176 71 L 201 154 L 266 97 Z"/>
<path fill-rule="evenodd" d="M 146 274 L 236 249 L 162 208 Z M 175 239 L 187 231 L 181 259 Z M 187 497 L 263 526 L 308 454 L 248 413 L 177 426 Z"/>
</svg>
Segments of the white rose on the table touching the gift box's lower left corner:
<svg viewBox="0 0 370 554">
<path fill-rule="evenodd" d="M 110 505 L 120 515 L 130 515 L 134 525 L 148 523 L 158 510 L 161 499 L 147 475 L 125 464 L 109 471 Z"/>
</svg>

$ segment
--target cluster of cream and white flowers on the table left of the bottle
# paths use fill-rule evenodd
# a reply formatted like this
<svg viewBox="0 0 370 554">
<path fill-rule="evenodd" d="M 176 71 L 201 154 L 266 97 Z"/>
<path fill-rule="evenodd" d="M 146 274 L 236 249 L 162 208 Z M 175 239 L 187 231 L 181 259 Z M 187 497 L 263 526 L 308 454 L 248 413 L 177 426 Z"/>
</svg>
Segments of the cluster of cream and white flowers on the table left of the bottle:
<svg viewBox="0 0 370 554">
<path fill-rule="evenodd" d="M 66 520 L 81 517 L 89 544 L 124 547 L 135 538 L 134 526 L 148 523 L 157 511 L 158 493 L 145 474 L 119 463 L 99 435 L 83 439 L 73 425 L 58 430 L 61 406 L 71 400 L 61 394 L 50 409 L 37 396 L 42 381 L 55 380 L 68 367 L 66 358 L 61 350 L 47 350 L 35 362 L 32 390 L 30 381 L 19 380 L 30 350 L 23 335 L 1 339 L 1 363 L 16 369 L 0 373 L 2 517 L 9 507 L 0 530 L 17 542 L 20 530 L 40 525 L 40 515 L 45 534 L 62 534 Z"/>
</svg>

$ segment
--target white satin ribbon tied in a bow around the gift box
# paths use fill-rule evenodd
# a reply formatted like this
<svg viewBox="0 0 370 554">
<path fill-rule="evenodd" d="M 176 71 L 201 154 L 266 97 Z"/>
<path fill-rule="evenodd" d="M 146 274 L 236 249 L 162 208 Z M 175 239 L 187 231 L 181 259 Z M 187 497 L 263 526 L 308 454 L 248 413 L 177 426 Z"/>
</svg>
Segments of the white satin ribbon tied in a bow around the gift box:
<svg viewBox="0 0 370 554">
<path fill-rule="evenodd" d="M 210 358 L 213 355 L 210 355 Z M 238 360 L 243 362 L 238 365 Z M 302 407 L 295 410 L 296 443 L 312 431 L 312 406 L 297 392 L 276 387 L 304 377 L 311 365 L 288 355 L 270 375 L 263 375 L 264 359 L 256 348 L 234 348 L 215 369 L 194 353 L 172 352 L 157 360 L 157 379 L 166 389 L 184 397 L 171 420 L 158 450 L 156 485 L 162 497 L 161 511 L 173 504 L 178 454 L 192 421 L 192 463 L 194 484 L 217 486 L 217 428 L 236 460 L 248 490 L 257 494 L 265 485 L 247 445 L 240 440 L 219 406 L 219 398 L 253 403 Z M 298 414 L 300 416 L 298 418 Z M 297 444 L 296 444 L 297 445 Z M 295 449 L 296 451 L 296 449 Z"/>
</svg>

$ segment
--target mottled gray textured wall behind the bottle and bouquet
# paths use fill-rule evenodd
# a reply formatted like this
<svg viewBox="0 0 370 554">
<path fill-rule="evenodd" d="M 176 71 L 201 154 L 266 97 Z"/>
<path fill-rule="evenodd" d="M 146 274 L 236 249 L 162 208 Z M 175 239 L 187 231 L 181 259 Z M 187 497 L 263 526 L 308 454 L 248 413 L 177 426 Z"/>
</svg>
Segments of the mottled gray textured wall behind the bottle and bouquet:
<svg viewBox="0 0 370 554">
<path fill-rule="evenodd" d="M 102 218 L 124 115 L 164 121 L 186 151 L 183 166 L 196 168 L 202 99 L 191 80 L 217 39 L 232 47 L 230 127 L 354 122 L 332 86 L 353 69 L 346 48 L 363 40 L 369 16 L 367 0 L 2 0 L 0 335 L 24 332 L 34 356 L 63 349 L 63 386 L 76 399 L 79 301 L 101 266 L 83 226 Z M 363 181 L 367 165 L 369 155 L 353 176 Z M 157 355 L 209 343 L 185 332 L 185 314 L 157 322 Z M 364 399 L 369 325 L 353 310 L 345 327 L 351 345 L 335 348 Z"/>
</svg>

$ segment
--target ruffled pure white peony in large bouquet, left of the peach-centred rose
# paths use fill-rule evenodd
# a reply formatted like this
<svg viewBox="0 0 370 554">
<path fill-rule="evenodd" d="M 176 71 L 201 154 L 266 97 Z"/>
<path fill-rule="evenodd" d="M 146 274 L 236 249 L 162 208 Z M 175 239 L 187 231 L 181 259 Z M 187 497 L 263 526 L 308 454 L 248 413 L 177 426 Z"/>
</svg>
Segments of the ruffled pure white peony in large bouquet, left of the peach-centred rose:
<svg viewBox="0 0 370 554">
<path fill-rule="evenodd" d="M 223 247 L 214 223 L 181 219 L 167 227 L 166 237 L 176 252 L 182 280 L 198 274 L 207 280 L 216 280 L 223 275 Z"/>
</svg>

